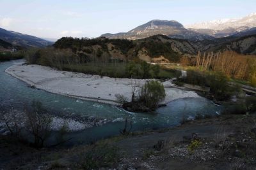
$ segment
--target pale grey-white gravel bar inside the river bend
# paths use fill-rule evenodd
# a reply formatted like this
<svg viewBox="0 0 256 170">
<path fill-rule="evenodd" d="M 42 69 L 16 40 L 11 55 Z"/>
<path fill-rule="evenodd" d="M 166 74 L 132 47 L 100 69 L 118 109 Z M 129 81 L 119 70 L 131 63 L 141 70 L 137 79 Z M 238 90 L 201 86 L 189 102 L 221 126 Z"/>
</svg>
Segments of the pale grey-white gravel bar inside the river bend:
<svg viewBox="0 0 256 170">
<path fill-rule="evenodd" d="M 114 105 L 118 105 L 115 94 L 122 94 L 131 99 L 132 84 L 143 85 L 147 81 L 58 71 L 51 67 L 23 63 L 9 67 L 6 73 L 47 92 Z M 163 82 L 163 85 L 166 97 L 162 103 L 186 97 L 200 97 L 193 91 L 170 87 L 170 81 Z"/>
</svg>

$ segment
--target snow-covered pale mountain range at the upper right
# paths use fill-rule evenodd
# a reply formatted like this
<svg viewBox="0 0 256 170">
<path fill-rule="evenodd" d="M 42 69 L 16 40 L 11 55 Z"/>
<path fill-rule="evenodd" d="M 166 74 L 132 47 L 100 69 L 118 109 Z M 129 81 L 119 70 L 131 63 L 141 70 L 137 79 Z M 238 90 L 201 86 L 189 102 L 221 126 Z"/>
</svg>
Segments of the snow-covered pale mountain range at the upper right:
<svg viewBox="0 0 256 170">
<path fill-rule="evenodd" d="M 252 13 L 242 18 L 212 20 L 197 24 L 186 25 L 190 31 L 200 34 L 208 34 L 216 38 L 232 36 L 241 31 L 256 27 L 256 13 Z"/>
</svg>

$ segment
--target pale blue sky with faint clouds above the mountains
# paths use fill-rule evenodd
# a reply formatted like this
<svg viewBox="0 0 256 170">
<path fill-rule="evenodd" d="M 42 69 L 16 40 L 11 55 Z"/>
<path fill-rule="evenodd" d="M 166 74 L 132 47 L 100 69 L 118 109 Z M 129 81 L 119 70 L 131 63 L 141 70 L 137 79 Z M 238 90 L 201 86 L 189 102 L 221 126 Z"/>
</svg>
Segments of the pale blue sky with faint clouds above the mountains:
<svg viewBox="0 0 256 170">
<path fill-rule="evenodd" d="M 255 0 L 0 0 L 0 27 L 40 38 L 95 38 L 153 19 L 188 25 L 244 17 L 255 6 Z"/>
</svg>

